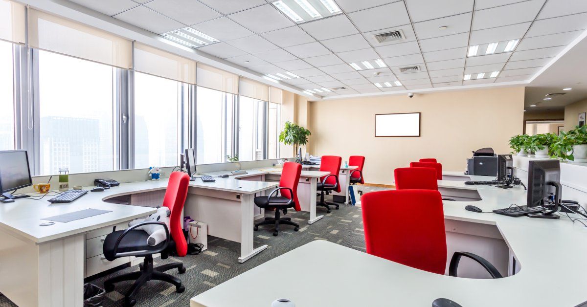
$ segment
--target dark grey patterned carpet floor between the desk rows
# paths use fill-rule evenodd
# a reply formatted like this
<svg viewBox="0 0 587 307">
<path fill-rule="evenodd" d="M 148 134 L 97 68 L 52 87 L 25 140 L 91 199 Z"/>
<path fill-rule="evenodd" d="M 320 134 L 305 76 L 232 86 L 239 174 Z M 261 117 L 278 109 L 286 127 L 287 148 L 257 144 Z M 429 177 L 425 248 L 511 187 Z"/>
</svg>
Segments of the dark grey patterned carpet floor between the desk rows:
<svg viewBox="0 0 587 307">
<path fill-rule="evenodd" d="M 384 189 L 361 187 L 360 190 L 366 192 L 367 190 Z M 155 259 L 156 265 L 174 261 L 184 263 L 187 269 L 184 274 L 178 274 L 177 270 L 170 270 L 168 273 L 183 281 L 185 292 L 176 293 L 175 286 L 166 282 L 149 281 L 139 291 L 136 297 L 136 306 L 189 306 L 193 296 L 313 240 L 325 239 L 359 251 L 365 251 L 363 222 L 359 207 L 341 204 L 340 210 L 332 208 L 330 214 L 326 214 L 325 208 L 318 207 L 318 214 L 323 214 L 325 217 L 315 224 L 308 225 L 309 212 L 288 212 L 286 216 L 291 217 L 292 221 L 298 222 L 300 229 L 298 232 L 294 232 L 294 227 L 281 225 L 278 237 L 272 235 L 273 226 L 259 227 L 259 230 L 255 232 L 255 247 L 267 244 L 268 248 L 244 264 L 239 264 L 237 261 L 240 254 L 240 245 L 237 242 L 215 237 L 208 237 L 208 250 L 200 255 L 187 255 L 183 258 L 170 257 L 165 260 Z M 316 261 L 328 261 L 328 259 L 316 257 Z M 87 282 L 103 288 L 105 279 L 138 269 L 138 266 L 124 268 L 111 275 Z M 268 276 L 268 281 L 270 279 L 271 276 Z M 124 293 L 130 285 L 130 281 L 116 284 L 114 291 L 106 293 L 104 306 L 122 306 Z M 5 296 L 0 296 L 0 307 L 4 306 L 16 305 Z"/>
</svg>

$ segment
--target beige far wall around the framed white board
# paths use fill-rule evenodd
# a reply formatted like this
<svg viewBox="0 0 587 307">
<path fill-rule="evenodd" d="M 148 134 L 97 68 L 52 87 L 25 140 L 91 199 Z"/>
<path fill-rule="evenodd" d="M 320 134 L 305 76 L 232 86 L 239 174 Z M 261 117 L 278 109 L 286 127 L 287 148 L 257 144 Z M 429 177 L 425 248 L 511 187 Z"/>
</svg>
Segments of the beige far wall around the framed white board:
<svg viewBox="0 0 587 307">
<path fill-rule="evenodd" d="M 511 150 L 522 133 L 524 87 L 467 90 L 311 103 L 311 153 L 348 161 L 365 156 L 366 183 L 391 184 L 393 170 L 435 157 L 444 170 L 465 169 L 471 151 Z M 375 114 L 421 112 L 421 137 L 375 137 Z"/>
</svg>

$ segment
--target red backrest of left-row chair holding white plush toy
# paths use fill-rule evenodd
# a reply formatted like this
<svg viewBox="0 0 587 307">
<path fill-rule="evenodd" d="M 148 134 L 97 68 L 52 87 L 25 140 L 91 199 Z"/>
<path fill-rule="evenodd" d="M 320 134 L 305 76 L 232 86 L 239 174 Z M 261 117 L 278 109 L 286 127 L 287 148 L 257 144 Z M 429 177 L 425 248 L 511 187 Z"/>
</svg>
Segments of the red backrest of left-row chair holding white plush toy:
<svg viewBox="0 0 587 307">
<path fill-rule="evenodd" d="M 176 242 L 177 255 L 184 257 L 187 254 L 187 242 L 183 234 L 183 221 L 181 214 L 187 197 L 187 189 L 190 185 L 190 176 L 181 171 L 174 171 L 169 176 L 167 191 L 163 198 L 163 205 L 171 210 L 169 217 L 169 232 Z"/>
</svg>

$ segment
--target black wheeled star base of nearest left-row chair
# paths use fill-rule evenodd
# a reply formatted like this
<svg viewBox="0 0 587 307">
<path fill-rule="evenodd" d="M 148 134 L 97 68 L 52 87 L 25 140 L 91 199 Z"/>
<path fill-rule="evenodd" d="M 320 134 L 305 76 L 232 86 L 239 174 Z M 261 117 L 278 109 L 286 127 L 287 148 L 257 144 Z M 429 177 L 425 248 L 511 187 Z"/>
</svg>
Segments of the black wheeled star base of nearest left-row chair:
<svg viewBox="0 0 587 307">
<path fill-rule="evenodd" d="M 110 292 L 114 290 L 114 284 L 116 282 L 134 280 L 133 285 L 124 295 L 124 306 L 133 306 L 137 302 L 134 297 L 137 295 L 137 293 L 139 293 L 140 287 L 146 284 L 147 281 L 151 280 L 164 281 L 173 284 L 176 286 L 177 293 L 185 291 L 184 286 L 181 285 L 180 279 L 173 275 L 164 273 L 165 271 L 175 268 L 177 268 L 177 271 L 180 272 L 180 274 L 185 273 L 183 263 L 177 262 L 173 264 L 164 264 L 153 268 L 153 256 L 148 255 L 144 258 L 143 263 L 139 265 L 139 268 L 139 272 L 131 272 L 115 276 L 104 281 L 104 288 L 106 291 Z"/>
</svg>

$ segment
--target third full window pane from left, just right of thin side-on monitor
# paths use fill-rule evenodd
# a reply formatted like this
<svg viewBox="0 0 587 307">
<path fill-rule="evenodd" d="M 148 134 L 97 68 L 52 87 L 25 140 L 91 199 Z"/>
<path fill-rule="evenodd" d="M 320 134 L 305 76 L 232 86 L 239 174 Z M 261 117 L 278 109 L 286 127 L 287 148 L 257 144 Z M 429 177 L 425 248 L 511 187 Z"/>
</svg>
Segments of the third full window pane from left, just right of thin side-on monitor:
<svg viewBox="0 0 587 307">
<path fill-rule="evenodd" d="M 196 110 L 196 163 L 221 163 L 232 156 L 234 95 L 198 87 Z"/>
</svg>

